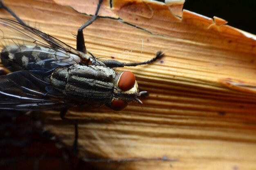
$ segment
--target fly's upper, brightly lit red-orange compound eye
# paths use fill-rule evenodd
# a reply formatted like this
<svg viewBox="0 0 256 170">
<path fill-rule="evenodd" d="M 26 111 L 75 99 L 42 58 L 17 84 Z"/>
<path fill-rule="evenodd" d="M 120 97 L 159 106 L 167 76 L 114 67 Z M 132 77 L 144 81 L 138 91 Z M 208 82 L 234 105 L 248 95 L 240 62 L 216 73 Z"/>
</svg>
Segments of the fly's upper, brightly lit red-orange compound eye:
<svg viewBox="0 0 256 170">
<path fill-rule="evenodd" d="M 121 74 L 118 87 L 123 91 L 130 90 L 135 84 L 135 76 L 130 71 L 125 71 Z"/>
</svg>

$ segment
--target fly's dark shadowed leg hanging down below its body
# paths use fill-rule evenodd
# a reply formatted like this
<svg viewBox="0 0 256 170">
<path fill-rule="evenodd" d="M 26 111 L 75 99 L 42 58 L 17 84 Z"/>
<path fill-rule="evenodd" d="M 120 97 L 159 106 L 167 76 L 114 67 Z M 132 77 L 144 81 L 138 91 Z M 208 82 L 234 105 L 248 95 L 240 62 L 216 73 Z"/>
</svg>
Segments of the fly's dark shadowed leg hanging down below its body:
<svg viewBox="0 0 256 170">
<path fill-rule="evenodd" d="M 78 153 L 78 149 L 77 149 L 78 122 L 75 119 L 69 119 L 69 118 L 65 117 L 66 113 L 67 113 L 67 108 L 63 108 L 60 112 L 60 117 L 62 120 L 69 121 L 71 124 L 74 124 L 74 126 L 75 126 L 75 139 L 74 139 L 74 143 L 72 146 L 72 152 L 76 155 Z"/>
</svg>

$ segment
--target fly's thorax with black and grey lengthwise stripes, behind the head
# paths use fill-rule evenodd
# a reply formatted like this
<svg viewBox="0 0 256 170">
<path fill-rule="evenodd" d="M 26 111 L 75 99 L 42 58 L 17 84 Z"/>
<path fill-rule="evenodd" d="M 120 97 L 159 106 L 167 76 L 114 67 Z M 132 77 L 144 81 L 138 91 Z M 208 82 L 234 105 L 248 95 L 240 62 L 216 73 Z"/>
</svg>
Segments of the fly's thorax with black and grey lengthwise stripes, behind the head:
<svg viewBox="0 0 256 170">
<path fill-rule="evenodd" d="M 111 101 L 115 71 L 104 66 L 57 68 L 51 77 L 52 85 L 63 90 L 69 98 L 82 103 L 106 104 Z"/>
</svg>

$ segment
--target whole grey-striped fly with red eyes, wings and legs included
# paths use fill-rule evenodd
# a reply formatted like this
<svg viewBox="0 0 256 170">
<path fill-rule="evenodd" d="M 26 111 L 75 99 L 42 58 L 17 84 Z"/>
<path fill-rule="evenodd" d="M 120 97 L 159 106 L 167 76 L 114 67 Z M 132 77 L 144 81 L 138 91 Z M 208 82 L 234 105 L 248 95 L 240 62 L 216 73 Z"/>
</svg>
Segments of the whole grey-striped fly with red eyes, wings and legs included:
<svg viewBox="0 0 256 170">
<path fill-rule="evenodd" d="M 74 49 L 26 25 L 0 1 L 0 7 L 18 20 L 0 19 L 0 41 L 5 44 L 0 57 L 10 71 L 0 76 L 0 109 L 61 109 L 61 118 L 72 121 L 65 118 L 65 113 L 74 106 L 106 105 L 120 111 L 130 102 L 142 104 L 138 97 L 146 91 L 139 92 L 134 74 L 115 68 L 149 64 L 163 53 L 159 51 L 152 60 L 138 63 L 94 57 L 85 48 L 83 29 L 97 19 L 101 2 L 95 15 L 78 29 Z"/>
</svg>

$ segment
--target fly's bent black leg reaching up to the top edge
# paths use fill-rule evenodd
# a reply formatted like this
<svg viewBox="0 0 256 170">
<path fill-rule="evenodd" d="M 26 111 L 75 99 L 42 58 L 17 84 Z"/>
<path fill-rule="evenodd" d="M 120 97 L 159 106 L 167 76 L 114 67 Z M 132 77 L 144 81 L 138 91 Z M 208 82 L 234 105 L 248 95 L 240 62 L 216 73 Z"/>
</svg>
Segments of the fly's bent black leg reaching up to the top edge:
<svg viewBox="0 0 256 170">
<path fill-rule="evenodd" d="M 76 50 L 81 51 L 83 53 L 86 53 L 86 47 L 85 47 L 85 41 L 83 38 L 83 29 L 85 29 L 86 26 L 92 24 L 92 22 L 94 22 L 97 17 L 98 17 L 98 12 L 99 12 L 99 8 L 101 7 L 101 2 L 102 0 L 99 0 L 99 4 L 97 6 L 96 12 L 94 14 L 94 16 L 87 21 L 85 24 L 83 24 L 78 30 L 77 30 L 77 35 L 76 35 Z"/>
</svg>

